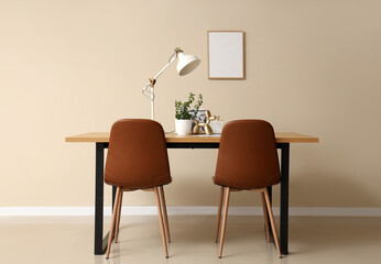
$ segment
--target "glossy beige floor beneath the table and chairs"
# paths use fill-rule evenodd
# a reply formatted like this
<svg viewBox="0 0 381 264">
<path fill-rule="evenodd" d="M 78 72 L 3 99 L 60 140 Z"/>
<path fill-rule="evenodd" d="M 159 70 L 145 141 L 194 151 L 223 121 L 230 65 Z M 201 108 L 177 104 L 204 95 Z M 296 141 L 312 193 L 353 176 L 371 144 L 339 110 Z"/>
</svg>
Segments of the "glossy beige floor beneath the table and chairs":
<svg viewBox="0 0 381 264">
<path fill-rule="evenodd" d="M 0 260 L 7 264 L 381 263 L 380 218 L 291 217 L 290 255 L 282 260 L 265 241 L 263 218 L 239 216 L 228 218 L 224 258 L 218 260 L 215 220 L 170 216 L 173 242 L 165 260 L 156 217 L 122 216 L 120 241 L 106 261 L 92 254 L 92 217 L 2 217 Z"/>
</svg>

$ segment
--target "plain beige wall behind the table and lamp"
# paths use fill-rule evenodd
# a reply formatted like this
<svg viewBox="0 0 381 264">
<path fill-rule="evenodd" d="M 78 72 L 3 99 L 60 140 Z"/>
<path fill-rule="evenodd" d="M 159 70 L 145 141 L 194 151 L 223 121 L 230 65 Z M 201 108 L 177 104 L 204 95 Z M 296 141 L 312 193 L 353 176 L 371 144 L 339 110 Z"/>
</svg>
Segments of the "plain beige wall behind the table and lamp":
<svg viewBox="0 0 381 264">
<path fill-rule="evenodd" d="M 381 207 L 380 10 L 378 0 L 0 0 L 0 207 L 94 205 L 95 145 L 64 138 L 149 118 L 141 88 L 176 46 L 203 63 L 159 79 L 165 130 L 174 100 L 202 92 L 226 121 L 265 119 L 320 138 L 291 146 L 292 207 Z M 208 30 L 246 32 L 246 80 L 207 78 Z M 167 204 L 216 205 L 216 157 L 170 150 Z M 232 205 L 260 204 L 235 194 Z"/>
</svg>

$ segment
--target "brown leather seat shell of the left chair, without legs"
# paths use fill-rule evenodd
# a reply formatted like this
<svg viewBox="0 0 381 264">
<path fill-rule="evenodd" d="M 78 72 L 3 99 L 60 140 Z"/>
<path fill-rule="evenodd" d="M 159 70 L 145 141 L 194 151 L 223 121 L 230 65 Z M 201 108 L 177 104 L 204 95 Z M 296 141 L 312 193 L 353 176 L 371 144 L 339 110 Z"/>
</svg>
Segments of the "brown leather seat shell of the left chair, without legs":
<svg viewBox="0 0 381 264">
<path fill-rule="evenodd" d="M 122 119 L 112 125 L 105 182 L 131 189 L 172 182 L 165 135 L 160 123 Z"/>
</svg>

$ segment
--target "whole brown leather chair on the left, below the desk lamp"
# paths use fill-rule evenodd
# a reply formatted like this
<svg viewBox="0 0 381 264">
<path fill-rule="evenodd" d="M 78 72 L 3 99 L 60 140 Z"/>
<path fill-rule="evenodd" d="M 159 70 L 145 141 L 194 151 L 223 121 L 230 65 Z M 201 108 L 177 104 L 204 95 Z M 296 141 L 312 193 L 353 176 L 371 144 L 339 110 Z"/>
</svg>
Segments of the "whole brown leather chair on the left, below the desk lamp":
<svg viewBox="0 0 381 264">
<path fill-rule="evenodd" d="M 110 254 L 113 231 L 115 241 L 118 241 L 123 193 L 138 189 L 153 190 L 155 194 L 165 257 L 168 257 L 165 237 L 167 235 L 167 241 L 171 242 L 171 235 L 163 185 L 170 184 L 172 178 L 165 135 L 160 123 L 152 120 L 123 119 L 112 125 L 105 182 L 117 186 L 106 258 Z"/>
</svg>

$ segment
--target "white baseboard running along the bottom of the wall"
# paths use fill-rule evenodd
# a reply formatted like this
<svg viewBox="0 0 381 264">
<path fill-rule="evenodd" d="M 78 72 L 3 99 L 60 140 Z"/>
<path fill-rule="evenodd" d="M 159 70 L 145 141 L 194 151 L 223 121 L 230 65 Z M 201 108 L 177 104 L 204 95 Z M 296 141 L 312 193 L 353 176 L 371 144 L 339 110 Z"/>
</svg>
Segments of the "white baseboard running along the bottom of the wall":
<svg viewBox="0 0 381 264">
<path fill-rule="evenodd" d="M 167 207 L 168 215 L 216 215 L 217 207 Z M 279 216 L 279 207 L 273 208 Z M 106 207 L 105 216 L 111 216 Z M 154 216 L 154 206 L 123 207 L 123 216 Z M 261 207 L 229 207 L 230 216 L 262 216 Z M 0 217 L 94 216 L 94 207 L 0 207 Z M 290 216 L 301 217 L 381 217 L 381 208 L 291 207 Z"/>
</svg>

